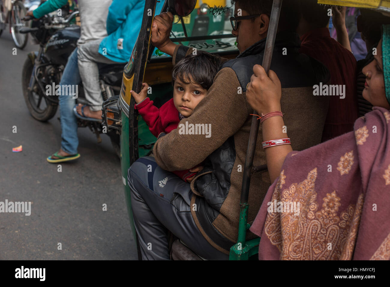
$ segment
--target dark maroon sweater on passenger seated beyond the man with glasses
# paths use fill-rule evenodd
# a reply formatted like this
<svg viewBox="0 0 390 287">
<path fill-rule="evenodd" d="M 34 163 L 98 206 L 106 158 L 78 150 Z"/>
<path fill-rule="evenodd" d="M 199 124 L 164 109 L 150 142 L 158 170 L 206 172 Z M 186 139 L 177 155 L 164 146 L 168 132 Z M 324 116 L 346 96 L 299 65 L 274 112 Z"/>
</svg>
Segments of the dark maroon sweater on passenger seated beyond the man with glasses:
<svg viewBox="0 0 390 287">
<path fill-rule="evenodd" d="M 322 62 L 329 70 L 332 85 L 345 85 L 345 99 L 330 96 L 322 142 L 348 133 L 358 118 L 356 59 L 330 37 L 328 28 L 317 28 L 301 37 L 300 52 Z"/>
</svg>

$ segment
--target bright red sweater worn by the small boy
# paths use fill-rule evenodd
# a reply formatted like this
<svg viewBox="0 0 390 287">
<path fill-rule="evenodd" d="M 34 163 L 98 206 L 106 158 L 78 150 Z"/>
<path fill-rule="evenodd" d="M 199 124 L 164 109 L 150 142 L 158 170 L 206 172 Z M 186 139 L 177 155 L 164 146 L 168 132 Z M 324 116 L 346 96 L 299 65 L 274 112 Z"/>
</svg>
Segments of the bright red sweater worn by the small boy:
<svg viewBox="0 0 390 287">
<path fill-rule="evenodd" d="M 173 99 L 167 101 L 161 108 L 157 108 L 153 105 L 153 101 L 147 97 L 142 102 L 134 105 L 134 108 L 138 110 L 149 126 L 149 130 L 156 137 L 160 133 L 169 133 L 176 129 L 180 122 L 180 113 L 176 109 Z M 177 170 L 173 173 L 183 181 L 187 181 L 188 177 L 196 174 L 196 172 L 190 172 L 190 170 Z"/>
</svg>

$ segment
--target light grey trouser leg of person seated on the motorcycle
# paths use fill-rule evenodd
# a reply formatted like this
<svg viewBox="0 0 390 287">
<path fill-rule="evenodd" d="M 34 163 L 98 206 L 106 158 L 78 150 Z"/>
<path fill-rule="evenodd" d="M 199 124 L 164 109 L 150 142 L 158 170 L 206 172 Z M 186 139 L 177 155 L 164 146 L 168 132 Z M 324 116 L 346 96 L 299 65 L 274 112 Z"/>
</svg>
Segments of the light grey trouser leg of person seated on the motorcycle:
<svg viewBox="0 0 390 287">
<path fill-rule="evenodd" d="M 78 46 L 78 70 L 84 86 L 84 94 L 90 110 L 99 111 L 103 104 L 99 84 L 99 67 L 97 63 L 118 64 L 99 54 L 101 39 L 89 41 Z"/>
</svg>

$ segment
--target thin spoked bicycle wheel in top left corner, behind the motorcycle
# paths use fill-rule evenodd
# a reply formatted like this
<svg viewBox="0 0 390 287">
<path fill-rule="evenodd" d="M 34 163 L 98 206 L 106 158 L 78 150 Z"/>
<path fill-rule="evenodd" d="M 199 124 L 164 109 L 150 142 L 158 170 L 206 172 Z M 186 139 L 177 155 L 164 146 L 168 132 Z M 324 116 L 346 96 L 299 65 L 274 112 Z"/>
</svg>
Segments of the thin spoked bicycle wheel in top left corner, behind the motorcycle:
<svg viewBox="0 0 390 287">
<path fill-rule="evenodd" d="M 28 34 L 21 34 L 19 32 L 21 27 L 28 26 L 28 21 L 22 21 L 22 18 L 26 16 L 26 14 L 27 11 L 22 2 L 16 1 L 14 5 L 12 5 L 10 19 L 11 34 L 16 47 L 20 49 L 23 49 L 26 46 L 28 39 Z"/>
</svg>

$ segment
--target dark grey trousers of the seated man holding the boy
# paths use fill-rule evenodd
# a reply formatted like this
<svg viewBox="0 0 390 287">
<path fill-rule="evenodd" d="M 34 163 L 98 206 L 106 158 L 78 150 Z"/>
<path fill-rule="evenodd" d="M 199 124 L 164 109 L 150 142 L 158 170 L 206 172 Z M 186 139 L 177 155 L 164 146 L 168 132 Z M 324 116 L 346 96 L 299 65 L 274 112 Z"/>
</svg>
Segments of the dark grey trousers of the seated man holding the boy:
<svg viewBox="0 0 390 287">
<path fill-rule="evenodd" d="M 131 207 L 143 260 L 169 260 L 168 231 L 208 260 L 228 260 L 202 236 L 191 215 L 190 184 L 139 158 L 128 170 Z"/>
</svg>

